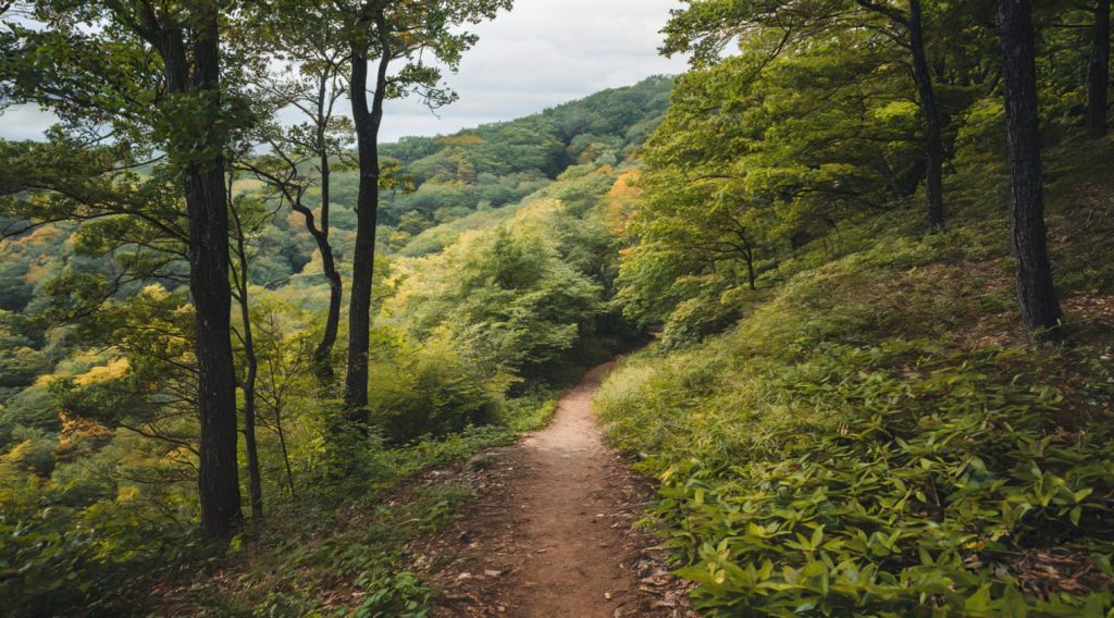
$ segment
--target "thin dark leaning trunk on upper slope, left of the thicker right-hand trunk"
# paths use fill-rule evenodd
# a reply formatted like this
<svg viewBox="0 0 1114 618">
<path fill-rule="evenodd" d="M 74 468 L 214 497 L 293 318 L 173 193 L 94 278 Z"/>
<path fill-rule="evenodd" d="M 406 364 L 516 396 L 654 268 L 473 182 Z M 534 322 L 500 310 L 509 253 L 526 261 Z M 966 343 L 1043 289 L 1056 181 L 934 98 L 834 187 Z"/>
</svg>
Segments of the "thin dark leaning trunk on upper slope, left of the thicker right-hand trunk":
<svg viewBox="0 0 1114 618">
<path fill-rule="evenodd" d="M 909 0 L 909 47 L 912 50 L 912 73 L 920 96 L 920 109 L 925 116 L 925 156 L 927 164 L 927 205 L 929 228 L 944 225 L 944 138 L 940 129 L 940 114 L 936 106 L 936 90 L 932 73 L 928 67 L 925 50 L 925 31 L 921 20 L 920 0 Z"/>
</svg>

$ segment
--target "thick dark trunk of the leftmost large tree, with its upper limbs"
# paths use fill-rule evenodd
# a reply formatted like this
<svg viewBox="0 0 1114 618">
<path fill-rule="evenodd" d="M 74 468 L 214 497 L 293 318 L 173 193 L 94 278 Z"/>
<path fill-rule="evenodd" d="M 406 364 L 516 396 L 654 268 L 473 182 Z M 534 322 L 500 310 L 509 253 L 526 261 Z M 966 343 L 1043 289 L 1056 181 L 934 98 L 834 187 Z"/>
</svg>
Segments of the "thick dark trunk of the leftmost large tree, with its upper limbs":
<svg viewBox="0 0 1114 618">
<path fill-rule="evenodd" d="M 116 21 L 159 55 L 170 96 L 168 108 L 187 102 L 187 130 L 170 131 L 172 157 L 184 166 L 189 220 L 189 292 L 197 318 L 198 415 L 202 425 L 198 487 L 202 531 L 219 539 L 240 524 L 236 465 L 236 373 L 232 359 L 228 287 L 228 203 L 224 190 L 225 126 L 221 94 L 221 41 L 217 3 L 203 1 L 157 12 L 147 2 L 107 2 Z M 180 17 L 179 17 L 180 16 Z M 177 104 L 177 105 L 176 105 Z M 165 121 L 173 121 L 170 117 Z"/>
</svg>

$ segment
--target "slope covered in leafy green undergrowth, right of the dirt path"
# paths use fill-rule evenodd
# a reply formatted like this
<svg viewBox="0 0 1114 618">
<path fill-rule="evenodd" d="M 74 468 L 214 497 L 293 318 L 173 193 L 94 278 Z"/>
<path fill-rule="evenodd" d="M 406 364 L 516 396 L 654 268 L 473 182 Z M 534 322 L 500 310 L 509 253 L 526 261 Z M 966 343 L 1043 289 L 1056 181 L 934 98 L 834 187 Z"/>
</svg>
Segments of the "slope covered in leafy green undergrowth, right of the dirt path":
<svg viewBox="0 0 1114 618">
<path fill-rule="evenodd" d="M 959 176 L 945 232 L 922 234 L 911 204 L 844 223 L 736 293 L 723 334 L 686 344 L 667 327 L 606 381 L 597 408 L 659 479 L 651 514 L 698 607 L 1106 615 L 1110 155 L 1052 153 L 1061 344 L 1020 327 L 1004 199 Z"/>
</svg>

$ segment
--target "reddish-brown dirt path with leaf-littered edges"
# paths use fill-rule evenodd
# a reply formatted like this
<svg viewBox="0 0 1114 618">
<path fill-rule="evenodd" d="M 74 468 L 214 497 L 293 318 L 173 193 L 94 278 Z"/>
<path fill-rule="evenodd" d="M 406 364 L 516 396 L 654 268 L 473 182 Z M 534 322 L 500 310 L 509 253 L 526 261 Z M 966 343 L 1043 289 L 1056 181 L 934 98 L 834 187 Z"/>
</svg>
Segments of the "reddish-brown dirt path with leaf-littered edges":
<svg viewBox="0 0 1114 618">
<path fill-rule="evenodd" d="M 469 460 L 476 501 L 409 548 L 439 591 L 434 616 L 695 616 L 668 551 L 632 527 L 647 480 L 600 440 L 592 394 L 610 369 L 566 391 L 548 428 Z"/>
</svg>

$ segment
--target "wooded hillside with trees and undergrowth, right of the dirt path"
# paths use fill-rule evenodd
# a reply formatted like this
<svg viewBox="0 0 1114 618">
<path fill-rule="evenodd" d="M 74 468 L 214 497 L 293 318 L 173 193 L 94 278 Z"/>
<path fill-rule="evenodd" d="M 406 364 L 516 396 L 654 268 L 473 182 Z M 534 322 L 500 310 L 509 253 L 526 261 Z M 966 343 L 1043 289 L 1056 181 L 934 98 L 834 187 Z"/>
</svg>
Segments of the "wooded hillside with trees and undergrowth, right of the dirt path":
<svg viewBox="0 0 1114 618">
<path fill-rule="evenodd" d="M 1028 4 L 666 27 L 596 404 L 711 615 L 1114 607 L 1110 4 Z"/>
</svg>

